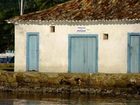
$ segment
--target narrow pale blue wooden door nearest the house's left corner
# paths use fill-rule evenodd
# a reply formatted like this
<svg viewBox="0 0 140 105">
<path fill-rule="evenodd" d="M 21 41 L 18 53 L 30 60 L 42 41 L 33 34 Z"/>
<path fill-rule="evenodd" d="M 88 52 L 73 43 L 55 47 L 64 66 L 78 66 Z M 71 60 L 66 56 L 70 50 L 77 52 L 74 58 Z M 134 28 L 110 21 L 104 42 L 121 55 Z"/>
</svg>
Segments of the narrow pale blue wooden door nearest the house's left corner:
<svg viewBox="0 0 140 105">
<path fill-rule="evenodd" d="M 38 70 L 39 36 L 36 33 L 27 35 L 27 70 Z"/>
</svg>

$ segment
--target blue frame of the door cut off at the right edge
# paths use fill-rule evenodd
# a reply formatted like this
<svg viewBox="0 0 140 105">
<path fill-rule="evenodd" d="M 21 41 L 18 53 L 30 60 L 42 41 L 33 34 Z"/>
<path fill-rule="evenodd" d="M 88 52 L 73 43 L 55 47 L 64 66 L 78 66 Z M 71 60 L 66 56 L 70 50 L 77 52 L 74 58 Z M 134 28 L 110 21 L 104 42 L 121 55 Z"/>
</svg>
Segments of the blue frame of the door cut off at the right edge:
<svg viewBox="0 0 140 105">
<path fill-rule="evenodd" d="M 131 36 L 140 36 L 140 33 L 138 32 L 131 32 L 128 33 L 128 44 L 127 44 L 127 72 L 131 72 L 131 51 L 130 51 L 130 45 L 131 45 Z"/>
</svg>

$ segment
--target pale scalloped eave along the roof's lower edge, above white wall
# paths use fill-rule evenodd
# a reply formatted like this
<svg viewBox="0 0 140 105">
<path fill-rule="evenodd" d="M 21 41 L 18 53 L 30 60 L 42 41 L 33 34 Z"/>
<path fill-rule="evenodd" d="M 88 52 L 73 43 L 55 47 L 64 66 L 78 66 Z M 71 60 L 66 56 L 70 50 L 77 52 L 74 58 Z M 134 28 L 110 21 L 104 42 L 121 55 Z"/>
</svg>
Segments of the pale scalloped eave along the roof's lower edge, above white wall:
<svg viewBox="0 0 140 105">
<path fill-rule="evenodd" d="M 140 19 L 121 20 L 19 20 L 16 22 L 7 21 L 14 24 L 44 24 L 44 25 L 99 25 L 99 24 L 140 24 Z"/>
</svg>

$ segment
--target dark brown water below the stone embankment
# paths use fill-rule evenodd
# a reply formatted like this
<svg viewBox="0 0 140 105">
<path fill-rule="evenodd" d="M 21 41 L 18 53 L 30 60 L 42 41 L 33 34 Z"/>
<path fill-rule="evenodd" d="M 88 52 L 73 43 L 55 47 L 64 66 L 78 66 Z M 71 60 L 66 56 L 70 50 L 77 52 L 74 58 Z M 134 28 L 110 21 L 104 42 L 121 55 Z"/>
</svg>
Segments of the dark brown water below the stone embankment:
<svg viewBox="0 0 140 105">
<path fill-rule="evenodd" d="M 0 105 L 140 105 L 140 99 L 85 95 L 0 94 Z"/>
</svg>

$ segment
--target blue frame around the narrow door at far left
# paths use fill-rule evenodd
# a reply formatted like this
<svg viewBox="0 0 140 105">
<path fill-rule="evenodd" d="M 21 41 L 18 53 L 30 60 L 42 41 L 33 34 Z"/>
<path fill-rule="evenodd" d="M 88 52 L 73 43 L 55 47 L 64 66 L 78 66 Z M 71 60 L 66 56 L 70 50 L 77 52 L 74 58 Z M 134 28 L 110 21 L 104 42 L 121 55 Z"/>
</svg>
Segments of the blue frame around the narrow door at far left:
<svg viewBox="0 0 140 105">
<path fill-rule="evenodd" d="M 39 32 L 27 32 L 26 33 L 26 71 L 30 71 L 29 70 L 29 36 L 31 35 L 36 35 L 37 38 L 38 38 L 38 41 L 37 41 L 37 47 L 38 47 L 38 50 L 39 50 Z M 37 54 L 37 70 L 36 71 L 39 71 L 39 51 L 38 51 L 38 54 Z"/>
</svg>

